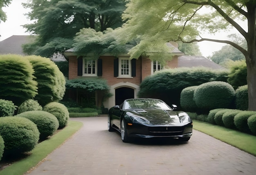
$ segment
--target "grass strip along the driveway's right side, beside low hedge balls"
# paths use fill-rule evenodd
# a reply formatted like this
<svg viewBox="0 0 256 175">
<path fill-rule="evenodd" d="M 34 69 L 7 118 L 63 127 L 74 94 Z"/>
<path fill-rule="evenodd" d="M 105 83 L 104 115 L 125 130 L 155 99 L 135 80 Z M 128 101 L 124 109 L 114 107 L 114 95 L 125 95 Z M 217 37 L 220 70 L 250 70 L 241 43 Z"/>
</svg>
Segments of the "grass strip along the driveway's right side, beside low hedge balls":
<svg viewBox="0 0 256 175">
<path fill-rule="evenodd" d="M 256 156 L 256 136 L 203 121 L 193 120 L 193 129 Z"/>
</svg>

